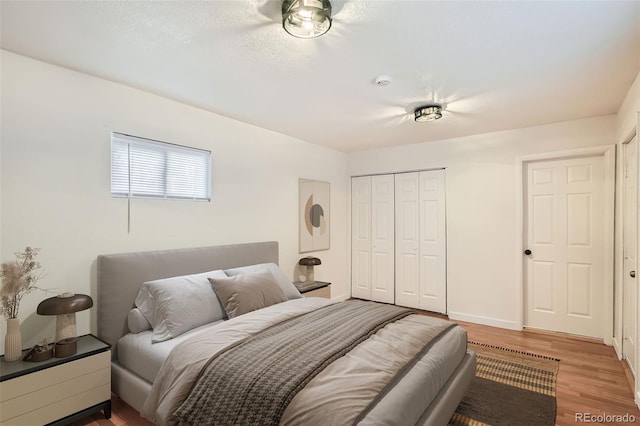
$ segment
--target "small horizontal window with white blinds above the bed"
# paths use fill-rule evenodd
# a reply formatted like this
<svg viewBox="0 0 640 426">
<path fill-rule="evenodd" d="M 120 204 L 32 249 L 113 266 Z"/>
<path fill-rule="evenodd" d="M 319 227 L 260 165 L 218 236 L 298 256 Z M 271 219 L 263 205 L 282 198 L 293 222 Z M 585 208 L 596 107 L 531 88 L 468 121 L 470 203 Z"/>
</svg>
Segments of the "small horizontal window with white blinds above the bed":
<svg viewBox="0 0 640 426">
<path fill-rule="evenodd" d="M 211 199 L 211 152 L 111 133 L 111 195 Z"/>
</svg>

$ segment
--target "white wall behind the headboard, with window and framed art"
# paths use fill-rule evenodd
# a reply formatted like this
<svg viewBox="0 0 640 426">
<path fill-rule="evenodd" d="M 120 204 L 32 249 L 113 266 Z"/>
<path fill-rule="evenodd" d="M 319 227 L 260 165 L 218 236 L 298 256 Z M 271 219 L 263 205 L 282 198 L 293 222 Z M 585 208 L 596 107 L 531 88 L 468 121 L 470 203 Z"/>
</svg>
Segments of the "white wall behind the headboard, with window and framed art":
<svg viewBox="0 0 640 426">
<path fill-rule="evenodd" d="M 280 242 L 293 278 L 306 178 L 331 183 L 331 249 L 315 253 L 316 278 L 347 296 L 345 154 L 10 52 L 0 59 L 2 260 L 40 247 L 39 286 L 95 297 L 98 254 L 266 240 Z M 128 234 L 127 201 L 110 195 L 111 131 L 211 150 L 213 202 L 133 200 Z M 20 306 L 25 347 L 55 333 L 53 318 L 35 314 L 46 297 Z M 79 313 L 78 333 L 95 332 L 95 319 L 95 308 Z"/>
</svg>

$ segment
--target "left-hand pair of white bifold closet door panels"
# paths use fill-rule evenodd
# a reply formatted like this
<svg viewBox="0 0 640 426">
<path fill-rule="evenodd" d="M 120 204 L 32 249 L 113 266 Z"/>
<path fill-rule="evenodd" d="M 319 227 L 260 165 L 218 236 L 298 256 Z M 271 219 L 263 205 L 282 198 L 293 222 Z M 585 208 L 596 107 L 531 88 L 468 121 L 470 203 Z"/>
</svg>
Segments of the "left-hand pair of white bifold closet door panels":
<svg viewBox="0 0 640 426">
<path fill-rule="evenodd" d="M 394 302 L 394 179 L 363 176 L 351 181 L 353 297 Z"/>
</svg>

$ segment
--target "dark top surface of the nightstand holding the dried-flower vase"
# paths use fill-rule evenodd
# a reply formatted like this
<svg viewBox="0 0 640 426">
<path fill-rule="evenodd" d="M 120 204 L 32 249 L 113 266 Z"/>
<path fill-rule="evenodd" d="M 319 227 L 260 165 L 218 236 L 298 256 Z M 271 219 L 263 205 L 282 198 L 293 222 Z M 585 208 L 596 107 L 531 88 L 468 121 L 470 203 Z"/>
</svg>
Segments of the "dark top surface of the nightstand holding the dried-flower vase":
<svg viewBox="0 0 640 426">
<path fill-rule="evenodd" d="M 85 334 L 84 336 L 78 337 L 78 352 L 65 358 L 49 358 L 39 362 L 22 360 L 6 362 L 3 355 L 0 357 L 0 382 L 105 352 L 109 349 L 111 349 L 111 345 L 108 343 L 103 342 L 92 334 Z M 22 351 L 23 357 L 27 351 L 29 351 L 29 349 Z"/>
</svg>

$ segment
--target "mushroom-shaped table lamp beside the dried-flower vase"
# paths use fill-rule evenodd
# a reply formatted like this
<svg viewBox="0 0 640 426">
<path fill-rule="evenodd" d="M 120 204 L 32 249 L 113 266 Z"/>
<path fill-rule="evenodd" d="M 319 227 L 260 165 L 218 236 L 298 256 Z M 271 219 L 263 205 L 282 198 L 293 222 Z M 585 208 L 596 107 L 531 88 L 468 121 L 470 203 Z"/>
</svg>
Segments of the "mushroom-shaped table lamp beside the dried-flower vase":
<svg viewBox="0 0 640 426">
<path fill-rule="evenodd" d="M 43 300 L 38 305 L 39 315 L 56 315 L 55 357 L 64 358 L 78 351 L 76 312 L 93 306 L 86 294 L 62 293 Z"/>
</svg>

